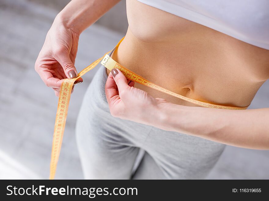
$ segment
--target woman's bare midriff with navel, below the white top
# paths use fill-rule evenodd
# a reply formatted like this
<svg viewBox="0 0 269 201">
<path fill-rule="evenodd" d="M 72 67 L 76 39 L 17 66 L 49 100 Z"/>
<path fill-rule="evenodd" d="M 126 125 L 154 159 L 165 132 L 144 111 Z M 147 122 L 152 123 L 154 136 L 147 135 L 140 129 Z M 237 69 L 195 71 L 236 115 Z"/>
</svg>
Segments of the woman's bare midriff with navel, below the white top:
<svg viewBox="0 0 269 201">
<path fill-rule="evenodd" d="M 269 78 L 269 50 L 136 0 L 126 3 L 129 28 L 112 58 L 147 80 L 191 99 L 244 107 Z M 196 106 L 141 84 L 135 87 Z"/>
</svg>

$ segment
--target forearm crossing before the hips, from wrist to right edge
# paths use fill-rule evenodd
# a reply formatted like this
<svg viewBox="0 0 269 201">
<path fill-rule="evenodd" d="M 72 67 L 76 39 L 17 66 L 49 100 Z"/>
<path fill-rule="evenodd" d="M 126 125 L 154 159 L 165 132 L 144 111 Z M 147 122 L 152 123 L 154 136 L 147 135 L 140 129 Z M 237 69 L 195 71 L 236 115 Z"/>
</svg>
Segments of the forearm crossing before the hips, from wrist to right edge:
<svg viewBox="0 0 269 201">
<path fill-rule="evenodd" d="M 165 103 L 157 127 L 237 147 L 269 149 L 269 108 L 221 110 Z"/>
</svg>

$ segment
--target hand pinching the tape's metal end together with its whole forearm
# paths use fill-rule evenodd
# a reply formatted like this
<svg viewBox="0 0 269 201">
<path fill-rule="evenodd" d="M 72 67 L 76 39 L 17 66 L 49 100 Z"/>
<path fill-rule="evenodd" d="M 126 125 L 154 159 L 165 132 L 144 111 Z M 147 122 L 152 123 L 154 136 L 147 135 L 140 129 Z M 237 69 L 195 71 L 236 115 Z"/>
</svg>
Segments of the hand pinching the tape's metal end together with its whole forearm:
<svg viewBox="0 0 269 201">
<path fill-rule="evenodd" d="M 242 111 L 176 105 L 135 88 L 120 70 L 111 72 L 105 94 L 114 117 L 232 146 L 269 150 L 265 121 L 269 108 Z"/>
</svg>

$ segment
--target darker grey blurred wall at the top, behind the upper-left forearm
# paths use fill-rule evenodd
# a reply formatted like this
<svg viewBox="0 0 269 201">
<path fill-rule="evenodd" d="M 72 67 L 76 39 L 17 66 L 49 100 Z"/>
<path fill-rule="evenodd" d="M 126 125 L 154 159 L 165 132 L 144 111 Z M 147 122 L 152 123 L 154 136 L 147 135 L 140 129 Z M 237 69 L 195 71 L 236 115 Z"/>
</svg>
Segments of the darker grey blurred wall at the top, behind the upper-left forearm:
<svg viewBox="0 0 269 201">
<path fill-rule="evenodd" d="M 70 2 L 70 0 L 27 0 L 27 1 L 42 4 L 43 6 L 56 9 L 59 12 L 64 8 L 64 6 L 68 4 L 68 2 Z M 121 0 L 116 6 L 110 9 L 103 17 L 101 17 L 96 23 L 105 26 L 109 29 L 112 29 L 114 31 L 126 33 L 128 28 L 128 21 L 126 16 L 126 1 Z"/>
</svg>

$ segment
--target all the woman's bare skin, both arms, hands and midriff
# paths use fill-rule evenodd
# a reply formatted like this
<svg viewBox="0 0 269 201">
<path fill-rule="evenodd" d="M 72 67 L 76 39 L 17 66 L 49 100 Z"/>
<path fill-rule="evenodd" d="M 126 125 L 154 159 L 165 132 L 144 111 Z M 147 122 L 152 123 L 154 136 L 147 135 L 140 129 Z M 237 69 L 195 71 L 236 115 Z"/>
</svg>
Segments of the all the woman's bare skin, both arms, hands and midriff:
<svg viewBox="0 0 269 201">
<path fill-rule="evenodd" d="M 79 35 L 117 2 L 72 0 L 55 18 L 35 70 L 57 96 L 62 80 L 72 71 L 77 73 Z M 127 1 L 127 17 L 126 37 L 112 58 L 171 91 L 204 102 L 244 107 L 269 78 L 269 50 L 135 0 Z M 190 107 L 195 105 L 139 84 L 128 85 L 120 72 L 114 78 L 109 74 L 105 91 L 115 117 L 233 146 L 269 149 L 268 108 Z M 144 113 L 155 118 L 146 118 Z"/>
</svg>

